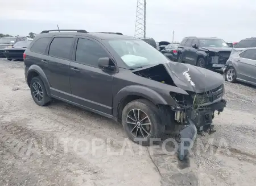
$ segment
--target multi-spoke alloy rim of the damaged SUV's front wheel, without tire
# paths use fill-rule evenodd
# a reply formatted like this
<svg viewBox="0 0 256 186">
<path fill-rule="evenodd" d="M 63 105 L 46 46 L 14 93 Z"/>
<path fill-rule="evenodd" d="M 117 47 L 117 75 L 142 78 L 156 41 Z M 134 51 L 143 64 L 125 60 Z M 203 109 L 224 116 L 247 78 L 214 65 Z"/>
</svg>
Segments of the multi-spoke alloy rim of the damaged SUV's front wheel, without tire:
<svg viewBox="0 0 256 186">
<path fill-rule="evenodd" d="M 127 127 L 135 138 L 147 138 L 151 133 L 150 118 L 141 109 L 132 109 L 126 117 Z"/>
</svg>

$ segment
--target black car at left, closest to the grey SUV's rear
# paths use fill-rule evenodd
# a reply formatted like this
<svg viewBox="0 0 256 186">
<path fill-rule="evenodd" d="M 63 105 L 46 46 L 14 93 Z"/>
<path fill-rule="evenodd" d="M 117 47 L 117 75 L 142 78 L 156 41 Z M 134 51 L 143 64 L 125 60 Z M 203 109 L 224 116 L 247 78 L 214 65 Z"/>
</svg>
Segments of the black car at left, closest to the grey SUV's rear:
<svg viewBox="0 0 256 186">
<path fill-rule="evenodd" d="M 31 41 L 17 42 L 13 47 L 5 48 L 3 54 L 7 60 L 23 60 L 23 53 L 30 43 Z"/>
</svg>

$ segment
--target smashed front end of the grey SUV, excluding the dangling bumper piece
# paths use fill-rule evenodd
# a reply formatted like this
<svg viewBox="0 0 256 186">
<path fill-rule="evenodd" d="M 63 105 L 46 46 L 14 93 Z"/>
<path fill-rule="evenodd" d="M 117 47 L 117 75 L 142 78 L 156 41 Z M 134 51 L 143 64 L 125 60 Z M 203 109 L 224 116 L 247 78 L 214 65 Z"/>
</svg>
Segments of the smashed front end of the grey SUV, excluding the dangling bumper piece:
<svg viewBox="0 0 256 186">
<path fill-rule="evenodd" d="M 180 106 L 180 108 L 171 107 L 171 110 L 175 111 L 175 122 L 184 125 L 184 119 L 188 117 L 195 124 L 197 133 L 203 131 L 213 133 L 214 113 L 217 111 L 217 114 L 220 114 L 226 106 L 224 94 L 224 84 L 203 93 L 189 92 L 189 96 L 172 94 L 171 96 Z"/>
</svg>

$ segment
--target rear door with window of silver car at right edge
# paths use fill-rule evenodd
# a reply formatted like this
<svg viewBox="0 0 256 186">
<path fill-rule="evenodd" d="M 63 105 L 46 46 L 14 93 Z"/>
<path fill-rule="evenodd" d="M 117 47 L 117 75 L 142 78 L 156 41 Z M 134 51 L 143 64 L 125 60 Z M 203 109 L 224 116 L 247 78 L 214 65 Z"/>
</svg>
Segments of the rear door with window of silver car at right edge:
<svg viewBox="0 0 256 186">
<path fill-rule="evenodd" d="M 256 49 L 247 49 L 237 59 L 237 77 L 256 83 Z"/>
</svg>

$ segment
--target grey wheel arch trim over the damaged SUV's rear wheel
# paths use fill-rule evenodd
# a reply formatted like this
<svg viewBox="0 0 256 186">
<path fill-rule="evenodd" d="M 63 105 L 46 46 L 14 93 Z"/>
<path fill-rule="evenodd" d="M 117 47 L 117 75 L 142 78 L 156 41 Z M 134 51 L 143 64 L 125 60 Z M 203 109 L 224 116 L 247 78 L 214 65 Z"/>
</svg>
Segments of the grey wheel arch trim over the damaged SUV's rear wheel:
<svg viewBox="0 0 256 186">
<path fill-rule="evenodd" d="M 43 69 L 40 68 L 38 65 L 31 65 L 30 68 L 27 71 L 27 84 L 30 87 L 30 82 L 33 77 L 39 76 L 41 80 L 44 83 L 44 86 L 46 87 L 46 92 L 48 96 L 51 96 L 51 91 L 50 91 L 50 85 L 49 81 L 46 77 L 46 74 L 43 72 Z"/>
</svg>

